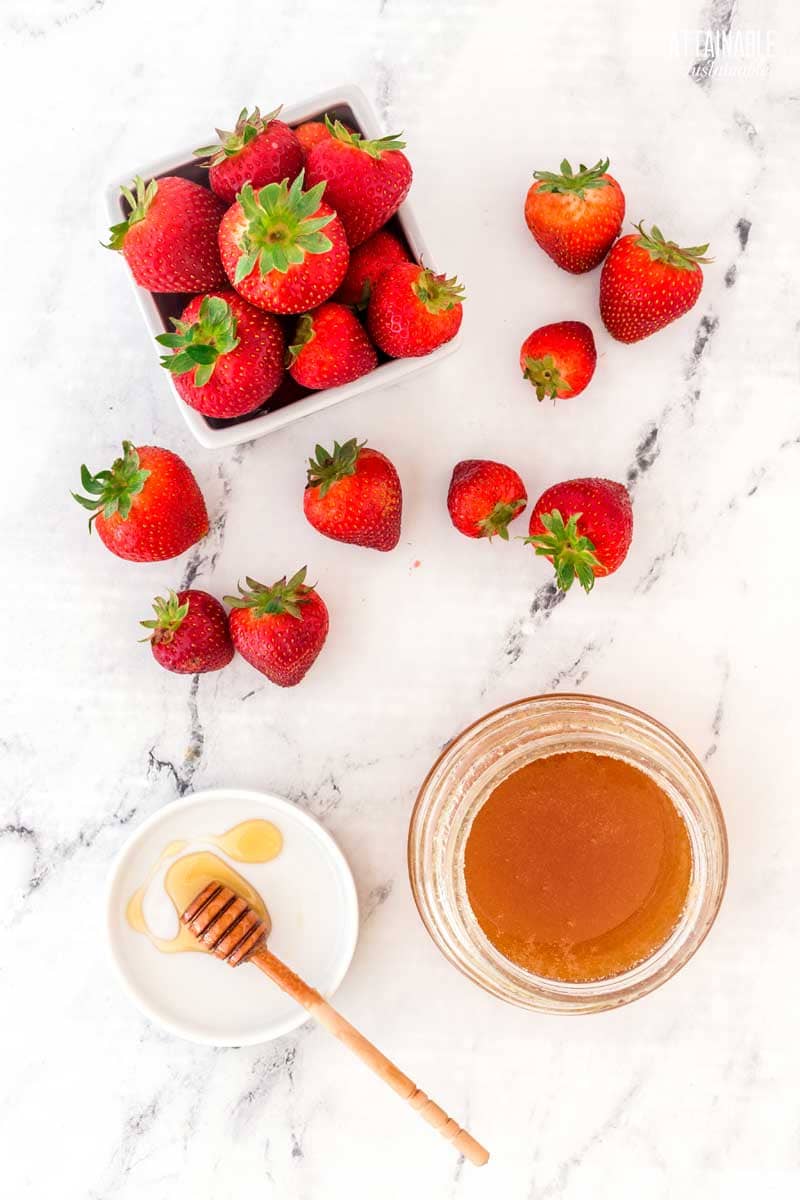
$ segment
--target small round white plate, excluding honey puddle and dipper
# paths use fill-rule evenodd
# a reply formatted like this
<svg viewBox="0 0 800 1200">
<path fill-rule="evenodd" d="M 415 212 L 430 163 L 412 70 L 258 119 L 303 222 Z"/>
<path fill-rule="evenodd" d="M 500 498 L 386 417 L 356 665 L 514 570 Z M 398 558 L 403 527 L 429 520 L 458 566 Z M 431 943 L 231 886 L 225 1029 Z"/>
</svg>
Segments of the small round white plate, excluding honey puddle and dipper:
<svg viewBox="0 0 800 1200">
<path fill-rule="evenodd" d="M 272 918 L 270 949 L 330 996 L 355 950 L 355 884 L 330 834 L 288 800 L 240 788 L 215 788 L 174 800 L 137 829 L 109 880 L 108 937 L 125 990 L 151 1020 L 206 1045 L 269 1042 L 301 1025 L 306 1013 L 253 966 L 229 967 L 201 953 L 162 954 L 131 929 L 125 910 L 168 842 L 197 841 L 252 817 L 279 828 L 283 850 L 269 863 L 233 865 L 264 896 Z"/>
</svg>

